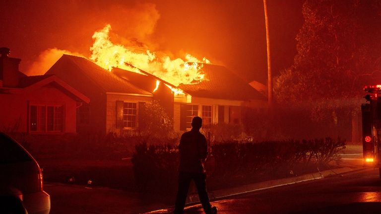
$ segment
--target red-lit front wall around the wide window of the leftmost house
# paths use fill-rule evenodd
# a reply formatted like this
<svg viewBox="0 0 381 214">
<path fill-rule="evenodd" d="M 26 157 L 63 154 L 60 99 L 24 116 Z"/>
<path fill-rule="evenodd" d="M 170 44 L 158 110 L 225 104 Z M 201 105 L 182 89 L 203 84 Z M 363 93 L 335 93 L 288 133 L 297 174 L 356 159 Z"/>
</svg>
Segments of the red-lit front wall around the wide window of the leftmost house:
<svg viewBox="0 0 381 214">
<path fill-rule="evenodd" d="M 30 105 L 64 106 L 63 133 L 76 133 L 76 101 L 63 91 L 53 86 L 44 86 L 29 91 L 25 89 L 9 89 L 8 94 L 0 94 L 1 130 L 29 132 Z"/>
</svg>

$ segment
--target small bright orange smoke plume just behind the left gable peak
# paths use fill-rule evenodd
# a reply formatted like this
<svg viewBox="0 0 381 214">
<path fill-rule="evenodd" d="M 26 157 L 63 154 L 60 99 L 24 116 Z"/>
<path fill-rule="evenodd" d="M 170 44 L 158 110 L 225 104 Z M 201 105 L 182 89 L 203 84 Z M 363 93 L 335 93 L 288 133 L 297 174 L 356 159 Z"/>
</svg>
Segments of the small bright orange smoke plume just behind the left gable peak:
<svg viewBox="0 0 381 214">
<path fill-rule="evenodd" d="M 60 50 L 57 48 L 50 48 L 43 51 L 38 59 L 33 62 L 33 64 L 26 71 L 26 75 L 43 75 L 48 71 L 56 62 L 59 60 L 63 54 L 75 55 L 83 57 L 80 53 L 73 53 L 67 50 Z"/>
</svg>

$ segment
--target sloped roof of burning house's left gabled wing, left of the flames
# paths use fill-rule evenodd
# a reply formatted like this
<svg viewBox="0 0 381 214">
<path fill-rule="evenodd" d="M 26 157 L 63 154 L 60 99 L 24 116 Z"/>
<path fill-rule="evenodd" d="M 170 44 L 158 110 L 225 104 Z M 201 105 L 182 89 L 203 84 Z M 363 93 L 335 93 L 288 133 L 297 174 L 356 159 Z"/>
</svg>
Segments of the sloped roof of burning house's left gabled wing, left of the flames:
<svg viewBox="0 0 381 214">
<path fill-rule="evenodd" d="M 81 81 L 73 79 L 75 74 L 77 77 L 79 75 L 79 78 L 88 78 L 104 92 L 152 96 L 152 93 L 82 57 L 64 54 L 45 74 L 56 74 L 74 87 Z"/>
</svg>

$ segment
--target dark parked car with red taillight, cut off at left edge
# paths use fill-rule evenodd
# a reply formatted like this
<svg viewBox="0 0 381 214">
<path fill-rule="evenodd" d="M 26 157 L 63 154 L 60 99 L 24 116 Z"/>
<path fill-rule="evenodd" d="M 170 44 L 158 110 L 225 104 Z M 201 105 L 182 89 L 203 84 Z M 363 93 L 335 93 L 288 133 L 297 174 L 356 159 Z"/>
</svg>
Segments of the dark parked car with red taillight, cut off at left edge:
<svg viewBox="0 0 381 214">
<path fill-rule="evenodd" d="M 19 143 L 0 132 L 0 213 L 49 214 L 37 161 Z"/>
</svg>

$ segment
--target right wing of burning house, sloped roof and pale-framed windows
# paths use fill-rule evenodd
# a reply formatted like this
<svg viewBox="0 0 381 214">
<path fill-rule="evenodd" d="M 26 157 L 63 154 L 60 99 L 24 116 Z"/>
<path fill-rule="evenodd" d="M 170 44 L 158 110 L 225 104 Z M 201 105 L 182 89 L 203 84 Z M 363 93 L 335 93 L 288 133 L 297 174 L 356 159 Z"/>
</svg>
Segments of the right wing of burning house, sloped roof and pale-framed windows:
<svg viewBox="0 0 381 214">
<path fill-rule="evenodd" d="M 203 119 L 203 127 L 212 124 L 242 124 L 246 108 L 266 109 L 266 97 L 223 66 L 204 64 L 205 81 L 180 84 L 186 93 L 175 103 L 175 129 L 191 128 L 193 116 Z"/>
</svg>

